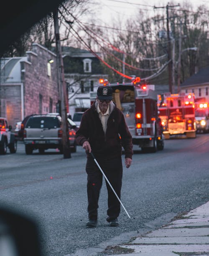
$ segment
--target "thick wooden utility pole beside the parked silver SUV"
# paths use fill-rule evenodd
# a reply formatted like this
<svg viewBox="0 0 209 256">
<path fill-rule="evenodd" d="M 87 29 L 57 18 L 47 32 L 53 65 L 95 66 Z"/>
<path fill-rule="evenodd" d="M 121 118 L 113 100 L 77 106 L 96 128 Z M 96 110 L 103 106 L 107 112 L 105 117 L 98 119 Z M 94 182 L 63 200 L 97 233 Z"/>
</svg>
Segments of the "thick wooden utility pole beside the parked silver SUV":
<svg viewBox="0 0 209 256">
<path fill-rule="evenodd" d="M 58 8 L 53 12 L 54 18 L 54 32 L 56 38 L 56 64 L 57 64 L 57 78 L 59 88 L 59 99 L 61 101 L 61 118 L 62 118 L 62 144 L 64 158 L 71 158 L 71 150 L 69 144 L 69 130 L 67 121 L 67 90 L 64 80 L 64 64 L 62 59 L 61 44 L 59 37 L 59 22 L 58 22 Z"/>
</svg>

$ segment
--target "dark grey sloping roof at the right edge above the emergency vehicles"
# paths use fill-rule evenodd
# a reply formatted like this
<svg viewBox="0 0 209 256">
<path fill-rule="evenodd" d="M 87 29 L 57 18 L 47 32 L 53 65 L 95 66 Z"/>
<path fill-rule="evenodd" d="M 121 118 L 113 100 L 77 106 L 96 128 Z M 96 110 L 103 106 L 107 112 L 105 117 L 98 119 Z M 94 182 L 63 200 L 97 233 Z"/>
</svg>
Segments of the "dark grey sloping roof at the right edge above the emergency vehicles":
<svg viewBox="0 0 209 256">
<path fill-rule="evenodd" d="M 209 67 L 203 67 L 199 72 L 192 75 L 190 78 L 181 84 L 181 87 L 189 87 L 191 85 L 200 85 L 209 83 Z"/>
</svg>

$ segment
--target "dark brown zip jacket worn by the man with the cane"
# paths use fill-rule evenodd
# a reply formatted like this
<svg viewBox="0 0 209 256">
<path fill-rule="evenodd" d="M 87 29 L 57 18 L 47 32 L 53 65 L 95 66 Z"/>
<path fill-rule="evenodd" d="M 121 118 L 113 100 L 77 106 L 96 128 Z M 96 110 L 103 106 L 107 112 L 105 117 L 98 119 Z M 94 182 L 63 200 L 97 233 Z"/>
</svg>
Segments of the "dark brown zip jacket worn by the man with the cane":
<svg viewBox="0 0 209 256">
<path fill-rule="evenodd" d="M 132 137 L 122 111 L 117 109 L 115 104 L 107 120 L 106 134 L 104 134 L 102 123 L 95 107 L 95 101 L 84 112 L 80 127 L 76 132 L 76 142 L 78 145 L 83 145 L 87 140 L 91 145 L 95 158 L 110 159 L 121 156 L 121 143 L 125 150 L 125 158 L 132 158 Z M 90 157 L 90 154 L 87 153 L 87 157 Z"/>
</svg>

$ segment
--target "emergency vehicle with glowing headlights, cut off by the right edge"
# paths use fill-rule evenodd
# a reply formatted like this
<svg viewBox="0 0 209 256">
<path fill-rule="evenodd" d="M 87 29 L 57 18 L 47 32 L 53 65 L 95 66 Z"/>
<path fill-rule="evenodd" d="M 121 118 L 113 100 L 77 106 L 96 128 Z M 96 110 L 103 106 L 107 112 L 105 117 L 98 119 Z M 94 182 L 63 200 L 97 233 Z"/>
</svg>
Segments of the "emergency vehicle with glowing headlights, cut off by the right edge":
<svg viewBox="0 0 209 256">
<path fill-rule="evenodd" d="M 209 104 L 206 99 L 196 99 L 195 101 L 196 132 L 209 132 Z"/>
</svg>

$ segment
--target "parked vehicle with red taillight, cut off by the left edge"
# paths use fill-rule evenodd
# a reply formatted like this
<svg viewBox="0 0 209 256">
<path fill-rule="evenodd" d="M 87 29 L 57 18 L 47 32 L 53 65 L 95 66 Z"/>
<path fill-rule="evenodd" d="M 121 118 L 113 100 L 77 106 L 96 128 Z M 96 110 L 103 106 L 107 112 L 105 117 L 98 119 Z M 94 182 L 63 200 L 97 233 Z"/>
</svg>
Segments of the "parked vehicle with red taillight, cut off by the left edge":
<svg viewBox="0 0 209 256">
<path fill-rule="evenodd" d="M 7 148 L 9 148 L 10 153 L 17 151 L 17 139 L 11 130 L 12 126 L 8 125 L 7 119 L 0 117 L 0 154 L 2 155 L 7 153 Z"/>
</svg>

